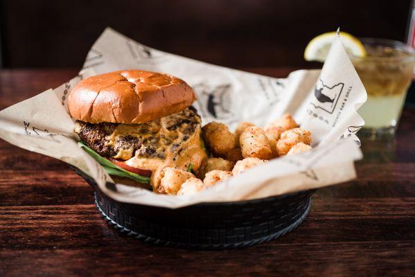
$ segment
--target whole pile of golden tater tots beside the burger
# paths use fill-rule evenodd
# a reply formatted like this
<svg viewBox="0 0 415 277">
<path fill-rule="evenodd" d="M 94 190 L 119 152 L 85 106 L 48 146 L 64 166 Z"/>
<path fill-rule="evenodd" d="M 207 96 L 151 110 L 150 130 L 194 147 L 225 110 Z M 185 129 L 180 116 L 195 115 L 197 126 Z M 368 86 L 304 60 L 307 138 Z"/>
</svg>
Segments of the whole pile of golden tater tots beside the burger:
<svg viewBox="0 0 415 277">
<path fill-rule="evenodd" d="M 270 159 L 312 149 L 310 132 L 290 114 L 264 128 L 241 122 L 233 133 L 227 125 L 211 122 L 202 127 L 202 136 L 210 157 L 195 174 L 177 168 L 161 172 L 160 186 L 169 195 L 193 195 Z"/>
</svg>

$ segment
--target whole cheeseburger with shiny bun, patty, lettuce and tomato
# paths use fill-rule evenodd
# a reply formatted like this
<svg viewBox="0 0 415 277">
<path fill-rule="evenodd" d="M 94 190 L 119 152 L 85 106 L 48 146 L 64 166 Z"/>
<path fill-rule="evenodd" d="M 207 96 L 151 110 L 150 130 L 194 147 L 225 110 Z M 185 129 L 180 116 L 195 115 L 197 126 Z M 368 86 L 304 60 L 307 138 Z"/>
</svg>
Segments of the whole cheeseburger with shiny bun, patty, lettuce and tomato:
<svg viewBox="0 0 415 277">
<path fill-rule="evenodd" d="M 206 158 L 195 92 L 172 75 L 125 70 L 73 87 L 69 113 L 80 146 L 121 180 L 160 187 L 166 167 L 197 172 Z"/>
</svg>

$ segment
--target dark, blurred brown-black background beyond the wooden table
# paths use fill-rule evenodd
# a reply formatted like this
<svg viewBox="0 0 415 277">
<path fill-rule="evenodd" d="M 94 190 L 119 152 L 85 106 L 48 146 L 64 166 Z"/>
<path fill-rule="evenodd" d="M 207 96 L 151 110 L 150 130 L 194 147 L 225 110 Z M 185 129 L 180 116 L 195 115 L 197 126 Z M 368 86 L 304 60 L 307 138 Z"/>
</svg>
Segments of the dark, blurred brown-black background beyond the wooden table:
<svg viewBox="0 0 415 277">
<path fill-rule="evenodd" d="M 409 0 L 0 0 L 3 68 L 80 68 L 104 28 L 162 51 L 230 67 L 319 67 L 324 32 L 405 41 Z"/>
</svg>

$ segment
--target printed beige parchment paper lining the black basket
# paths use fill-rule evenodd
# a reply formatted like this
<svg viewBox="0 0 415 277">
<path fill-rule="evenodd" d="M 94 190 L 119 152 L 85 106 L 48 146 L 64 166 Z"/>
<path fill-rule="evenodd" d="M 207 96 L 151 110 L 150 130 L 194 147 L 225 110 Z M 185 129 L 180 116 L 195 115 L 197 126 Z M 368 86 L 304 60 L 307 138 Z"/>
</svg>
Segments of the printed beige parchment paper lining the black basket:
<svg viewBox="0 0 415 277">
<path fill-rule="evenodd" d="M 123 184 L 107 187 L 111 177 L 78 148 L 67 96 L 82 78 L 121 69 L 145 69 L 182 78 L 197 93 L 194 105 L 204 124 L 216 120 L 233 129 L 238 122 L 249 121 L 263 126 L 290 112 L 301 127 L 312 132 L 315 149 L 274 159 L 187 197 L 157 195 Z M 300 70 L 288 78 L 271 78 L 157 51 L 107 28 L 75 78 L 0 111 L 0 137 L 80 168 L 118 201 L 179 208 L 198 202 L 281 195 L 355 178 L 353 161 L 362 157 L 355 132 L 364 125 L 356 111 L 366 99 L 338 37 L 321 71 Z"/>
</svg>

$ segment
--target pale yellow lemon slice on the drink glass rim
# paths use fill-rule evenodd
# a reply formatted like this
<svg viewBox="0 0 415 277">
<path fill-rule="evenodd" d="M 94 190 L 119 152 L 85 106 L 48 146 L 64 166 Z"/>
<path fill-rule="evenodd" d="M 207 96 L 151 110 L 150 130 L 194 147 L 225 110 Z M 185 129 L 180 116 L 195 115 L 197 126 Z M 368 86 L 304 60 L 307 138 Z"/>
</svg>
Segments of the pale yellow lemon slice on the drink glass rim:
<svg viewBox="0 0 415 277">
<path fill-rule="evenodd" d="M 347 53 L 351 53 L 357 57 L 366 56 L 366 50 L 364 50 L 362 42 L 360 42 L 357 37 L 353 37 L 353 35 L 345 32 L 339 33 Z M 330 46 L 333 44 L 335 35 L 336 32 L 328 32 L 317 35 L 317 37 L 311 39 L 311 41 L 308 42 L 306 51 L 304 51 L 304 59 L 306 59 L 306 61 L 324 62 L 328 51 L 330 50 Z"/>
</svg>

